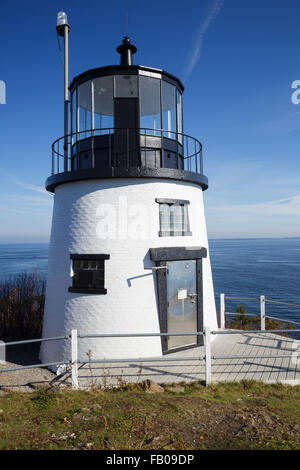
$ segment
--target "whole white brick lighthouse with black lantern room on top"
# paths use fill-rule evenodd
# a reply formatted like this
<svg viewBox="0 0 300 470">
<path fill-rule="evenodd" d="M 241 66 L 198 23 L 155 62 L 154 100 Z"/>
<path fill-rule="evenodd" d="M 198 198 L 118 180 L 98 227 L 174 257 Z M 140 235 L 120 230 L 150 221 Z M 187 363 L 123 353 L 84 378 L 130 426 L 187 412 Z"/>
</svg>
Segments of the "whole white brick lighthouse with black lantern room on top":
<svg viewBox="0 0 300 470">
<path fill-rule="evenodd" d="M 174 75 L 133 64 L 88 70 L 70 86 L 70 132 L 52 146 L 54 194 L 43 337 L 84 338 L 79 359 L 147 358 L 203 344 L 217 328 L 202 145 L 183 128 Z M 69 361 L 70 341 L 43 342 L 42 362 Z"/>
</svg>

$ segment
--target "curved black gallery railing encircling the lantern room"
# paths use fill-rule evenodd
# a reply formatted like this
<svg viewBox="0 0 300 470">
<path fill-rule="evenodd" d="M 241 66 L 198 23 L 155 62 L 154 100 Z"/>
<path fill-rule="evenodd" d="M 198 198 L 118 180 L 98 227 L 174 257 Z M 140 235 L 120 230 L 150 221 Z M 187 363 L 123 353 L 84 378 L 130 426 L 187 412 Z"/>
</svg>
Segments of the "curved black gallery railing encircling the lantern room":
<svg viewBox="0 0 300 470">
<path fill-rule="evenodd" d="M 118 166 L 173 168 L 203 175 L 202 144 L 187 134 L 148 128 L 91 129 L 52 144 L 52 175 Z"/>
</svg>

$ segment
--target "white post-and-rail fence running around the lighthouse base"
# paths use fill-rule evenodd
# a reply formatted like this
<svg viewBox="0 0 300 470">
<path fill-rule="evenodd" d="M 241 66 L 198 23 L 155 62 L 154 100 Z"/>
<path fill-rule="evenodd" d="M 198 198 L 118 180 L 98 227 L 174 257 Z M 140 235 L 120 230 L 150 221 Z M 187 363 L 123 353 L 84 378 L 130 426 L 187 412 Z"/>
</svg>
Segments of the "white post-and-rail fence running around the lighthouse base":
<svg viewBox="0 0 300 470">
<path fill-rule="evenodd" d="M 10 346 L 16 346 L 16 345 L 21 345 L 21 344 L 32 344 L 32 343 L 42 343 L 42 342 L 48 342 L 48 341 L 70 341 L 70 346 L 71 346 L 71 354 L 70 358 L 66 361 L 56 361 L 56 362 L 47 362 L 47 363 L 36 363 L 36 364 L 31 364 L 31 365 L 24 365 L 24 366 L 19 366 L 19 367 L 10 367 L 10 368 L 0 368 L 0 373 L 2 372 L 14 372 L 14 371 L 19 371 L 23 369 L 34 369 L 34 368 L 53 368 L 53 367 L 58 367 L 58 366 L 63 366 L 65 365 L 67 369 L 71 372 L 71 378 L 72 378 L 72 387 L 77 389 L 79 387 L 78 384 L 78 366 L 79 365 L 84 365 L 84 364 L 109 364 L 109 363 L 128 363 L 128 362 L 139 362 L 139 363 L 146 363 L 146 362 L 151 362 L 151 363 L 163 363 L 163 362 L 187 362 L 187 361 L 204 361 L 205 363 L 205 383 L 206 385 L 209 385 L 212 380 L 212 361 L 218 360 L 218 359 L 259 359 L 259 358 L 288 358 L 295 356 L 295 354 L 298 356 L 300 355 L 300 347 L 299 352 L 293 354 L 272 354 L 272 355 L 256 355 L 256 356 L 251 356 L 251 355 L 222 355 L 222 356 L 213 356 L 211 353 L 211 335 L 240 335 L 240 334 L 247 334 L 249 333 L 249 330 L 226 330 L 225 329 L 225 316 L 229 315 L 238 315 L 237 312 L 227 312 L 226 311 L 226 300 L 247 300 L 247 301 L 256 301 L 259 302 L 260 305 L 260 329 L 256 330 L 251 330 L 251 333 L 259 334 L 259 333 L 264 333 L 264 334 L 280 334 L 280 333 L 286 333 L 287 329 L 268 329 L 266 330 L 266 324 L 265 320 L 266 318 L 270 318 L 273 320 L 278 320 L 283 323 L 291 323 L 295 325 L 300 325 L 300 322 L 291 320 L 291 319 L 282 319 L 279 317 L 274 317 L 271 315 L 266 315 L 265 311 L 265 304 L 266 302 L 271 303 L 271 304 L 281 304 L 281 305 L 286 305 L 286 306 L 292 306 L 296 308 L 300 308 L 299 304 L 291 303 L 291 302 L 283 302 L 283 301 L 277 301 L 277 300 L 271 300 L 271 299 L 266 299 L 265 296 L 261 295 L 259 298 L 254 298 L 254 297 L 234 297 L 234 296 L 227 296 L 224 293 L 220 294 L 220 329 L 210 331 L 210 328 L 208 326 L 204 327 L 203 331 L 198 331 L 198 332 L 167 332 L 167 333 L 91 333 L 91 334 L 81 334 L 78 333 L 76 329 L 73 329 L 69 335 L 60 335 L 60 336 L 55 336 L 51 338 L 37 338 L 37 339 L 27 339 L 23 341 L 11 341 L 11 342 L 1 342 L 0 341 L 0 349 L 1 348 L 6 348 Z M 245 316 L 257 316 L 257 314 L 250 314 L 250 313 L 245 313 Z M 300 333 L 300 329 L 293 329 L 293 333 Z M 290 333 L 290 331 L 289 331 Z M 107 359 L 107 358 L 99 358 L 99 359 L 93 359 L 91 360 L 89 358 L 88 361 L 83 360 L 78 357 L 78 342 L 80 342 L 82 339 L 88 339 L 88 338 L 137 338 L 137 337 L 165 337 L 165 336 L 203 336 L 204 338 L 204 351 L 203 348 L 199 349 L 199 355 L 197 354 L 197 357 L 187 357 L 187 356 L 182 356 L 182 357 L 170 357 L 168 356 L 160 356 L 160 357 L 150 357 L 150 358 L 114 358 L 114 359 Z M 300 344 L 300 342 L 299 342 Z M 0 351 L 1 352 L 1 351 Z M 298 357 L 297 356 L 297 357 Z M 0 357 L 3 357 L 3 354 L 0 354 Z M 4 361 L 1 361 L 2 363 Z"/>
</svg>

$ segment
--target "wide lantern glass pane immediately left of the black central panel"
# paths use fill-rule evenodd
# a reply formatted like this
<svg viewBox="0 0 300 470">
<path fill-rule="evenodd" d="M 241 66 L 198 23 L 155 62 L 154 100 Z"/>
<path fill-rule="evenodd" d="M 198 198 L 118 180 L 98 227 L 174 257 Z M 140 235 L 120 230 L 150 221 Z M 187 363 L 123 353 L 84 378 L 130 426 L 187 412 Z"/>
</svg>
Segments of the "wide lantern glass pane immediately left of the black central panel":
<svg viewBox="0 0 300 470">
<path fill-rule="evenodd" d="M 94 129 L 95 135 L 107 134 L 114 127 L 113 76 L 94 79 Z"/>
</svg>

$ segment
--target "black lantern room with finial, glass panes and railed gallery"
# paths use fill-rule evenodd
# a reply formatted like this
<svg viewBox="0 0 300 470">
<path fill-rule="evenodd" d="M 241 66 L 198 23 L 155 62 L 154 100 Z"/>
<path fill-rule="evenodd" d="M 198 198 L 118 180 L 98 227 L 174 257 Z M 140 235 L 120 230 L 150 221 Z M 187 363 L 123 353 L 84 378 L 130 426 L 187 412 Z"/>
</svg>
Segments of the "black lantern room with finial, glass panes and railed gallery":
<svg viewBox="0 0 300 470">
<path fill-rule="evenodd" d="M 97 178 L 172 178 L 208 187 L 202 145 L 183 133 L 180 80 L 132 64 L 136 47 L 126 36 L 120 65 L 75 77 L 70 85 L 70 134 L 52 146 L 46 188 Z"/>
</svg>

